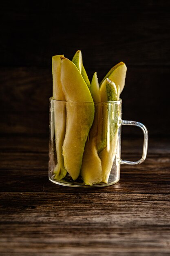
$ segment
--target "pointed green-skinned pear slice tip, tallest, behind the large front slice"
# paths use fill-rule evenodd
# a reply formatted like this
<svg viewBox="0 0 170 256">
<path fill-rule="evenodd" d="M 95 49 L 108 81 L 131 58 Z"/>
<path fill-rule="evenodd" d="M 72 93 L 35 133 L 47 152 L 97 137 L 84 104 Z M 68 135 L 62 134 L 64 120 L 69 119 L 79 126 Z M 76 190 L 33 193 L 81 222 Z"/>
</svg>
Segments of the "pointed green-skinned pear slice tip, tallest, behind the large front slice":
<svg viewBox="0 0 170 256">
<path fill-rule="evenodd" d="M 83 58 L 82 58 L 82 52 L 80 50 L 78 50 L 75 55 L 73 56 L 72 62 L 76 65 L 76 67 L 78 68 L 79 72 L 82 74 L 82 77 L 84 79 L 84 81 L 86 82 L 88 88 L 91 87 L 91 83 L 88 79 L 86 70 L 83 66 Z"/>
</svg>

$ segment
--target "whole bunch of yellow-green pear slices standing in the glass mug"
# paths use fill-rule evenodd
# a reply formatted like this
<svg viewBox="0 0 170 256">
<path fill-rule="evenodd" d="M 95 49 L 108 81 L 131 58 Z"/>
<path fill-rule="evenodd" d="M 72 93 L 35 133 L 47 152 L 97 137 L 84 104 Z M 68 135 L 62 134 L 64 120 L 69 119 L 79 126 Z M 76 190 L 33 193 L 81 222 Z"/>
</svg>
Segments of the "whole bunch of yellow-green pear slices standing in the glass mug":
<svg viewBox="0 0 170 256">
<path fill-rule="evenodd" d="M 117 148 L 118 128 L 115 126 L 113 130 L 114 146 L 110 154 L 104 131 L 107 127 L 104 129 L 105 124 L 102 124 L 103 112 L 109 115 L 108 107 L 100 110 L 95 103 L 119 100 L 126 70 L 126 65 L 120 62 L 100 84 L 96 72 L 90 83 L 80 50 L 72 61 L 63 55 L 53 56 L 53 99 L 57 100 L 54 108 L 55 180 L 62 180 L 68 174 L 73 180 L 81 177 L 86 185 L 108 182 Z"/>
</svg>

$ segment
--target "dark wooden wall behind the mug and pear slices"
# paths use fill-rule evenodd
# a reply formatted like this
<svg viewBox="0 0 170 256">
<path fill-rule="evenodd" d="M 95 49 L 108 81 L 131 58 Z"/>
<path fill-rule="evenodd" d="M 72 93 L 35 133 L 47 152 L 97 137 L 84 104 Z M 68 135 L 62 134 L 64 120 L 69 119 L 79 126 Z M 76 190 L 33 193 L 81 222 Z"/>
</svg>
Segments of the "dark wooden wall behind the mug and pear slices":
<svg viewBox="0 0 170 256">
<path fill-rule="evenodd" d="M 0 12 L 1 134 L 48 136 L 51 58 L 81 49 L 90 80 L 124 61 L 122 118 L 170 135 L 170 1 L 2 0 Z"/>
</svg>

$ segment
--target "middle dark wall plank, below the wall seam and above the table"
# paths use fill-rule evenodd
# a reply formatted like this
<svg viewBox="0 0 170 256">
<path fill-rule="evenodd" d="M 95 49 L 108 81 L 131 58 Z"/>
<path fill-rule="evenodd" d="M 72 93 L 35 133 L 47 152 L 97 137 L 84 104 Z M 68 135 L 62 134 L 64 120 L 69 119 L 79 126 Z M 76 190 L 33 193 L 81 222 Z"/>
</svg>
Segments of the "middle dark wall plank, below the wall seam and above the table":
<svg viewBox="0 0 170 256">
<path fill-rule="evenodd" d="M 51 70 L 5 67 L 0 69 L 0 74 L 3 85 L 0 88 L 0 133 L 48 136 Z M 129 67 L 121 94 L 122 118 L 144 123 L 150 135 L 170 135 L 170 119 L 166 117 L 170 106 L 164 97 L 160 97 L 159 90 L 155 90 L 168 79 L 168 67 Z M 163 93 L 169 95 L 170 87 L 165 86 Z M 122 130 L 126 135 L 142 134 L 139 128 L 126 126 Z"/>
</svg>

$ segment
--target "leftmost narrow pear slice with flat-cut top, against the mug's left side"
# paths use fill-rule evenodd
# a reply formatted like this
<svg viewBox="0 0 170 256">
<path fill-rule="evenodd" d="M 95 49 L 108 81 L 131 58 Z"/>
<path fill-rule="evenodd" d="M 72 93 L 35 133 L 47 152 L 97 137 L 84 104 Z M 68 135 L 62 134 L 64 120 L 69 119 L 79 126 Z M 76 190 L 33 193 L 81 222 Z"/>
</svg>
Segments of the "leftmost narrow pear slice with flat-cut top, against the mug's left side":
<svg viewBox="0 0 170 256">
<path fill-rule="evenodd" d="M 64 142 L 66 131 L 66 110 L 64 101 L 64 93 L 62 91 L 62 84 L 60 82 L 60 57 L 63 55 L 55 55 L 52 57 L 52 74 L 53 74 L 53 101 L 54 109 L 54 126 L 55 126 L 55 147 L 57 154 L 57 165 L 54 168 L 55 180 L 61 180 L 66 176 L 66 169 L 64 167 L 64 159 L 62 155 L 62 145 Z"/>
</svg>

